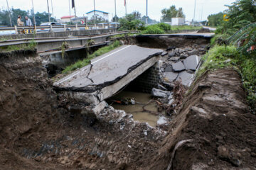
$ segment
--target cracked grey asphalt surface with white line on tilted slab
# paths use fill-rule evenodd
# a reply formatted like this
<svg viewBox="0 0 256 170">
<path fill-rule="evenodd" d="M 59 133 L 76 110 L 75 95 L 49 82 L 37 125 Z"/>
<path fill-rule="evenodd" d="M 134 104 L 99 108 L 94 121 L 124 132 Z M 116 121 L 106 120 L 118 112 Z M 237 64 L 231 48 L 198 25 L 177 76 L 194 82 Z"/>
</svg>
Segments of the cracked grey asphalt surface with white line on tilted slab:
<svg viewBox="0 0 256 170">
<path fill-rule="evenodd" d="M 75 91 L 94 91 L 113 84 L 151 57 L 161 55 L 163 50 L 122 45 L 105 55 L 91 60 L 91 64 L 56 81 L 53 86 Z"/>
</svg>

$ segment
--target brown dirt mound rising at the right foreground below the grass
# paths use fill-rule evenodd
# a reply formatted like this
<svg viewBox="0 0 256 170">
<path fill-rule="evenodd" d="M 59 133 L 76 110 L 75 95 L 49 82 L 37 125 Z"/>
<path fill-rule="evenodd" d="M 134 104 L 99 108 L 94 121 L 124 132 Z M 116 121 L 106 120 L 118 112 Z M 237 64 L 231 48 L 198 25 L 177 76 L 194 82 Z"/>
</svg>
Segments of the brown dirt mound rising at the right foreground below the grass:
<svg viewBox="0 0 256 170">
<path fill-rule="evenodd" d="M 255 169 L 255 130 L 238 73 L 210 72 L 194 84 L 149 169 Z"/>
</svg>

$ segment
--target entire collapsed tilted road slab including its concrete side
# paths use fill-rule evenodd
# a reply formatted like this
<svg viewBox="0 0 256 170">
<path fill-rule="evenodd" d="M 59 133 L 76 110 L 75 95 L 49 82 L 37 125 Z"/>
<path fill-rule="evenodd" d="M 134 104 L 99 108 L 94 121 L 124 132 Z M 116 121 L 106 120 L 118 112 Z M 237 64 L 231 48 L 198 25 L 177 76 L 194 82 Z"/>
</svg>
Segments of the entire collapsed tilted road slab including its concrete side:
<svg viewBox="0 0 256 170">
<path fill-rule="evenodd" d="M 91 60 L 89 65 L 56 81 L 53 86 L 71 98 L 96 106 L 154 65 L 162 52 L 123 45 Z"/>
</svg>

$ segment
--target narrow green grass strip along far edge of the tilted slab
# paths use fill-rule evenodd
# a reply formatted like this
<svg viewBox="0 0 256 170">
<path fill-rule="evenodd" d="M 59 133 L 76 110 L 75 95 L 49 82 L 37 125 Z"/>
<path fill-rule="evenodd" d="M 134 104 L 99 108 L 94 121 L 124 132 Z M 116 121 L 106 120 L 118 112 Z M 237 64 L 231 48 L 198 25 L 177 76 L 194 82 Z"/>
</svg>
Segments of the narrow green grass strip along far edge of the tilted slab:
<svg viewBox="0 0 256 170">
<path fill-rule="evenodd" d="M 93 52 L 91 55 L 87 55 L 87 57 L 84 60 L 79 60 L 78 62 L 75 62 L 74 64 L 71 64 L 70 66 L 65 67 L 62 73 L 69 74 L 70 72 L 73 72 L 75 69 L 80 69 L 82 67 L 85 67 L 87 64 L 90 64 L 90 60 L 100 55 L 104 55 L 105 53 L 110 52 L 111 50 L 114 50 L 119 46 L 120 46 L 120 42 L 116 40 L 109 46 L 101 47 L 99 50 Z"/>
</svg>

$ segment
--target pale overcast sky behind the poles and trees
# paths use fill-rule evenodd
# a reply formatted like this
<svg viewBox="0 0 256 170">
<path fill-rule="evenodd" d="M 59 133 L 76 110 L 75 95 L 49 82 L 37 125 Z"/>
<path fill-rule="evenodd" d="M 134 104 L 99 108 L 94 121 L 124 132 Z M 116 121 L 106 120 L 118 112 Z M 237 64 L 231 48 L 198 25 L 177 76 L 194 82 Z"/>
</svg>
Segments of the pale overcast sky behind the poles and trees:
<svg viewBox="0 0 256 170">
<path fill-rule="evenodd" d="M 32 0 L 8 0 L 9 7 L 30 10 L 32 8 Z M 56 18 L 61 16 L 69 16 L 69 1 L 71 0 L 48 0 L 50 4 L 53 1 L 53 14 Z M 117 16 L 124 16 L 125 7 L 124 0 L 117 1 Z M 194 0 L 148 0 L 149 1 L 149 17 L 157 21 L 161 18 L 161 9 L 169 8 L 175 5 L 176 8 L 182 7 L 186 15 L 186 20 L 191 21 L 194 11 Z M 235 0 L 196 0 L 196 21 L 207 19 L 207 16 L 213 13 L 224 11 Z M 6 0 L 0 0 L 1 8 L 6 8 Z M 48 11 L 47 0 L 33 0 L 35 11 Z M 114 16 L 114 0 L 95 0 L 96 9 L 110 13 L 110 18 Z M 71 5 L 71 4 L 70 4 Z M 77 16 L 83 16 L 88 11 L 93 10 L 93 0 L 75 0 Z M 139 11 L 142 16 L 146 13 L 146 0 L 127 0 L 127 13 Z M 71 15 L 74 10 L 71 9 Z"/>
</svg>

